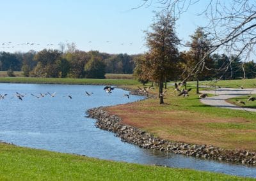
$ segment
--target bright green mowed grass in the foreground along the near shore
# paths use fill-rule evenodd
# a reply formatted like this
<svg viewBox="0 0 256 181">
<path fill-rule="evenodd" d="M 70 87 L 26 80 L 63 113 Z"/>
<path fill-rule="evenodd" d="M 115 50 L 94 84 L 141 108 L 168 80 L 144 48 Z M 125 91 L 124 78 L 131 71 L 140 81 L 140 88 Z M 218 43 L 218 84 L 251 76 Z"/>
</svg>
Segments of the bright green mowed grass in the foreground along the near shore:
<svg viewBox="0 0 256 181">
<path fill-rule="evenodd" d="M 0 180 L 255 180 L 205 171 L 104 161 L 0 143 Z"/>
</svg>

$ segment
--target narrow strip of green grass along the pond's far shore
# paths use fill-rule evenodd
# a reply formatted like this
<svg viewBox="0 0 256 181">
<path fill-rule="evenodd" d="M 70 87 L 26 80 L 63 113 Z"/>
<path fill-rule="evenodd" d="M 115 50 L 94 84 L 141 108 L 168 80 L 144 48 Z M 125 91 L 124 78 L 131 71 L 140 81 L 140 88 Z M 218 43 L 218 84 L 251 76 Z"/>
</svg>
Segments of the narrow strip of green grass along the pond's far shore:
<svg viewBox="0 0 256 181">
<path fill-rule="evenodd" d="M 35 77 L 0 77 L 1 83 L 63 83 L 90 85 L 134 85 L 132 79 L 97 79 L 97 78 L 35 78 Z"/>
</svg>

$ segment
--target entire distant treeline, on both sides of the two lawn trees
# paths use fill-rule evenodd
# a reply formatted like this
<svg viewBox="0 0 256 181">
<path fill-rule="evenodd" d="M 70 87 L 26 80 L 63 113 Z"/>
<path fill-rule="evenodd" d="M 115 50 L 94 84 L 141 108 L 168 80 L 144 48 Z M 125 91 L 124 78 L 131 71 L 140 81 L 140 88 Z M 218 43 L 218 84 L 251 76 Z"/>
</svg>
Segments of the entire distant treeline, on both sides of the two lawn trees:
<svg viewBox="0 0 256 181">
<path fill-rule="evenodd" d="M 21 53 L 0 52 L 0 71 L 8 71 L 9 76 L 14 76 L 12 71 L 22 71 L 24 76 L 34 77 L 70 77 L 70 78 L 105 78 L 106 73 L 131 74 L 136 66 L 136 60 L 143 55 L 106 54 L 99 51 L 84 52 L 73 50 L 60 52 L 59 50 L 44 49 L 40 52 L 33 50 Z M 189 59 L 180 53 L 180 62 Z M 211 68 L 221 69 L 230 63 L 232 57 L 225 54 L 213 54 L 209 59 Z M 243 70 L 244 69 L 244 70 Z M 179 80 L 184 68 L 180 66 L 179 73 L 175 73 Z M 135 71 L 136 73 L 136 71 Z M 220 77 L 223 79 L 256 77 L 256 63 L 253 61 L 242 62 L 236 58 L 228 67 L 220 71 L 205 71 L 200 75 L 200 80 L 209 80 Z"/>
</svg>

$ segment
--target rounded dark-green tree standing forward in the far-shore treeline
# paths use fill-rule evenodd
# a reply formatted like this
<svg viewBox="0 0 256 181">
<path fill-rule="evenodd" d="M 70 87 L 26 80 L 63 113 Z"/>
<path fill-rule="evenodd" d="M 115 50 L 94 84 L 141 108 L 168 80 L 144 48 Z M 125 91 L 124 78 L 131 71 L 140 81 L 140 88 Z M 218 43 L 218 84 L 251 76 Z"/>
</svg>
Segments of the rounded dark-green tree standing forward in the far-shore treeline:
<svg viewBox="0 0 256 181">
<path fill-rule="evenodd" d="M 84 66 L 86 78 L 105 78 L 106 65 L 100 57 L 92 57 Z"/>
</svg>

